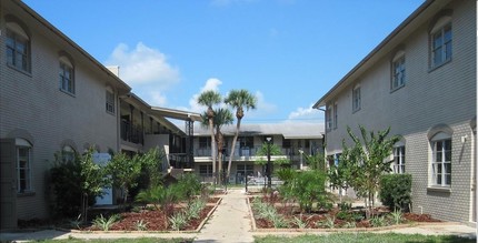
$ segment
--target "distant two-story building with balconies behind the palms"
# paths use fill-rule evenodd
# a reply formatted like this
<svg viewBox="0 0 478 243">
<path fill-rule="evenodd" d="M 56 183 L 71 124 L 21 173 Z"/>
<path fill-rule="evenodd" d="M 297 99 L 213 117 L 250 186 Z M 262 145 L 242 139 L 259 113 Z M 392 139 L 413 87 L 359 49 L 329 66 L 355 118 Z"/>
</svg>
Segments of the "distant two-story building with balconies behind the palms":
<svg viewBox="0 0 478 243">
<path fill-rule="evenodd" d="M 231 144 L 236 133 L 236 125 L 225 125 L 221 129 L 225 136 L 222 169 L 217 173 L 225 173 L 229 158 L 232 156 L 229 183 L 241 184 L 246 176 L 263 176 L 266 168 L 257 164 L 257 152 L 263 143 L 269 142 L 281 150 L 280 155 L 272 155 L 271 161 L 288 159 L 290 166 L 297 170 L 305 169 L 305 155 L 323 152 L 323 126 L 317 123 L 275 123 L 275 124 L 241 124 L 235 153 L 231 154 Z M 211 136 L 208 128 L 199 123 L 195 128 L 195 172 L 202 181 L 212 181 Z M 263 158 L 263 156 L 262 156 Z M 218 166 L 219 168 L 219 166 Z M 277 169 L 278 166 L 276 166 Z"/>
</svg>

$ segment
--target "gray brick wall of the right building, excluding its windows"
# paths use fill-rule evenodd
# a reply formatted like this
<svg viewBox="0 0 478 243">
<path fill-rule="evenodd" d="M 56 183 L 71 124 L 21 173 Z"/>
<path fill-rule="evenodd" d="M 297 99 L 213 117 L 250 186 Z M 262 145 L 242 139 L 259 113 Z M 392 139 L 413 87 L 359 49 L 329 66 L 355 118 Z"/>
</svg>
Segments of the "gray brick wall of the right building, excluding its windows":
<svg viewBox="0 0 478 243">
<path fill-rule="evenodd" d="M 452 59 L 429 69 L 430 16 L 406 38 L 396 41 L 380 59 L 353 80 L 361 87 L 361 110 L 352 112 L 352 84 L 327 100 L 338 104 L 338 129 L 327 133 L 327 152 L 340 152 L 341 141 L 356 134 L 358 124 L 368 130 L 391 126 L 391 134 L 406 140 L 406 170 L 412 174 L 414 211 L 432 216 L 468 222 L 471 219 L 471 171 L 475 153 L 470 121 L 476 119 L 476 1 L 451 1 Z M 437 11 L 438 12 L 438 11 Z M 405 47 L 407 82 L 390 92 L 391 58 Z M 428 131 L 447 124 L 452 134 L 452 182 L 450 192 L 430 189 L 431 146 Z M 461 143 L 461 136 L 468 139 Z"/>
</svg>

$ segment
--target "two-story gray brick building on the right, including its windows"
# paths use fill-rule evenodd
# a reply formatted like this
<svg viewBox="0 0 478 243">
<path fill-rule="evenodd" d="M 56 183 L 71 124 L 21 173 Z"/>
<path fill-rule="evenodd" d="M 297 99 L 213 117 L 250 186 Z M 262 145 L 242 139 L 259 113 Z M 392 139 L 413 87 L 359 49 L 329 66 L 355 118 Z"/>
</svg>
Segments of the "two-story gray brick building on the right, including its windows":
<svg viewBox="0 0 478 243">
<path fill-rule="evenodd" d="M 347 126 L 400 135 L 394 172 L 412 175 L 412 211 L 445 221 L 476 223 L 476 9 L 425 1 L 315 104 L 329 156 Z"/>
</svg>

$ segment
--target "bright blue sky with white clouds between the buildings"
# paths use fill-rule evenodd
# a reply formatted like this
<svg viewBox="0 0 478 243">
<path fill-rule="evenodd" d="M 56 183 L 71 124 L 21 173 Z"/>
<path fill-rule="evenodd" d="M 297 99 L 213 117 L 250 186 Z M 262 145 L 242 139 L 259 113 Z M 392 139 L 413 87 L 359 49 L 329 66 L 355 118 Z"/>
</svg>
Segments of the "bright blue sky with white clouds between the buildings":
<svg viewBox="0 0 478 243">
<path fill-rule="evenodd" d="M 245 123 L 322 122 L 311 109 L 422 0 L 23 0 L 151 105 L 247 89 Z"/>
</svg>

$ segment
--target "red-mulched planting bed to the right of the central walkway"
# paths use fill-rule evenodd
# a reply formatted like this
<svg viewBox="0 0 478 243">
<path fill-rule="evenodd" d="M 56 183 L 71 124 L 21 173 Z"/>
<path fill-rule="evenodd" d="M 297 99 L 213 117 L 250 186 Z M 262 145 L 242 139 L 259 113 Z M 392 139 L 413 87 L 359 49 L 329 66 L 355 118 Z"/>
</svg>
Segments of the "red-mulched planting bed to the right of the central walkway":
<svg viewBox="0 0 478 243">
<path fill-rule="evenodd" d="M 255 230 L 270 229 L 381 229 L 384 226 L 405 226 L 409 223 L 440 222 L 429 214 L 390 212 L 388 207 L 375 207 L 371 216 L 366 216 L 364 207 L 300 211 L 297 204 L 282 203 L 280 199 L 249 198 Z"/>
</svg>

